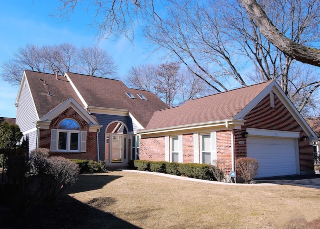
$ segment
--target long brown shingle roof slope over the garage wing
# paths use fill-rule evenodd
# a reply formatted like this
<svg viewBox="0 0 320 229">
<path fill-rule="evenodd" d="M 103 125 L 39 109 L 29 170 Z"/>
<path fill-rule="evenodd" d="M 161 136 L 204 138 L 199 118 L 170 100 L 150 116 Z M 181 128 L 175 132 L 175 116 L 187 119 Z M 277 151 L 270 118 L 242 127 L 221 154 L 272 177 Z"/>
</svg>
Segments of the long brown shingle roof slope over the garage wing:
<svg viewBox="0 0 320 229">
<path fill-rule="evenodd" d="M 181 106 L 156 111 L 145 130 L 231 119 L 271 82 L 192 99 Z"/>
</svg>

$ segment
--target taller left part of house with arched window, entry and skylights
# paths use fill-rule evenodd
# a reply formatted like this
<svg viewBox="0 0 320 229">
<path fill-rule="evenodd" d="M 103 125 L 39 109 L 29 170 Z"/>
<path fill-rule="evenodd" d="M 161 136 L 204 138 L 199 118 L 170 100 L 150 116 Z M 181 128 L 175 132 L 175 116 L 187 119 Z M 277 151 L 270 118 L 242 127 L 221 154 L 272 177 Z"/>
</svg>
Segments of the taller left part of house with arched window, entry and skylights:
<svg viewBox="0 0 320 229">
<path fill-rule="evenodd" d="M 16 102 L 16 124 L 29 150 L 127 166 L 138 159 L 136 131 L 167 105 L 149 91 L 121 81 L 74 73 L 24 71 Z"/>
</svg>

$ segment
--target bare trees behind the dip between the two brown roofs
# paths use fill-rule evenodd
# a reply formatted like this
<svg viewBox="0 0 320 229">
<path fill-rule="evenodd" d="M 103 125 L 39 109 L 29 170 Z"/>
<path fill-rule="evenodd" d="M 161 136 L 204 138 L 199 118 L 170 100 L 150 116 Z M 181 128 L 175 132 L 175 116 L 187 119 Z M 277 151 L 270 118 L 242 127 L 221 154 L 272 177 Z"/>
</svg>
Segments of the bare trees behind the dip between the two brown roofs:
<svg viewBox="0 0 320 229">
<path fill-rule="evenodd" d="M 129 87 L 153 92 L 171 107 L 212 93 L 211 87 L 187 68 L 180 68 L 177 62 L 131 67 L 124 82 Z"/>
</svg>

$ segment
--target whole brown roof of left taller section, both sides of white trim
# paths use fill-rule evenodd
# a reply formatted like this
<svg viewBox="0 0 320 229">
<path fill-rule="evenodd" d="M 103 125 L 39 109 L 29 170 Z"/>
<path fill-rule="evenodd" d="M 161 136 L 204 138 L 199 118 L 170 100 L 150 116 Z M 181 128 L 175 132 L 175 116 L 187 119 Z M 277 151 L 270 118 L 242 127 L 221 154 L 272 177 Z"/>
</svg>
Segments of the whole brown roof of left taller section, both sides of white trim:
<svg viewBox="0 0 320 229">
<path fill-rule="evenodd" d="M 39 118 L 68 98 L 73 98 L 83 108 L 88 106 L 128 110 L 143 127 L 154 111 L 167 108 L 153 93 L 130 89 L 119 80 L 69 72 L 66 77 L 57 78 L 55 74 L 34 71 L 25 71 L 25 74 Z M 125 93 L 131 93 L 135 99 L 129 98 Z M 142 94 L 147 100 L 140 99 L 137 94 Z M 81 101 L 79 95 L 84 101 Z"/>
</svg>

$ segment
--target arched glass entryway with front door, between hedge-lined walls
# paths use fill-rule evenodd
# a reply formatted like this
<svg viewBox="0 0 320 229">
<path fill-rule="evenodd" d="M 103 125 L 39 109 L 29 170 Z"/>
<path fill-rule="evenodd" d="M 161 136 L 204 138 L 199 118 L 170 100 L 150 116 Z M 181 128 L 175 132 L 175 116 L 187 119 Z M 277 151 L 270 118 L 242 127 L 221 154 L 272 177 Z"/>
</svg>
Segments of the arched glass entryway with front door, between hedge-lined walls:
<svg viewBox="0 0 320 229">
<path fill-rule="evenodd" d="M 105 130 L 105 162 L 123 163 L 128 158 L 128 129 L 123 122 L 111 122 Z"/>
</svg>

